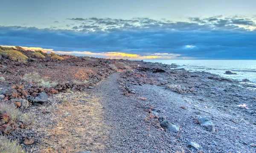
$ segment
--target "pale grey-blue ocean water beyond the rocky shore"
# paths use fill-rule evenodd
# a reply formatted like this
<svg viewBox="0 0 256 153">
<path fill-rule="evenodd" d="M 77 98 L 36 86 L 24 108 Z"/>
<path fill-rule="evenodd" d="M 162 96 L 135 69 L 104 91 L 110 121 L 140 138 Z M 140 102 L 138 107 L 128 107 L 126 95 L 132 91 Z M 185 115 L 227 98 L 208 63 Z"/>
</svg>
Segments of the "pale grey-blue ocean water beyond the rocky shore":
<svg viewBox="0 0 256 153">
<path fill-rule="evenodd" d="M 178 68 L 184 68 L 187 71 L 205 71 L 212 74 L 218 74 L 222 77 L 237 79 L 249 79 L 251 83 L 256 85 L 256 60 L 143 60 L 145 62 L 160 62 L 163 64 L 175 63 Z M 224 74 L 225 71 L 231 71 L 236 74 Z"/>
</svg>

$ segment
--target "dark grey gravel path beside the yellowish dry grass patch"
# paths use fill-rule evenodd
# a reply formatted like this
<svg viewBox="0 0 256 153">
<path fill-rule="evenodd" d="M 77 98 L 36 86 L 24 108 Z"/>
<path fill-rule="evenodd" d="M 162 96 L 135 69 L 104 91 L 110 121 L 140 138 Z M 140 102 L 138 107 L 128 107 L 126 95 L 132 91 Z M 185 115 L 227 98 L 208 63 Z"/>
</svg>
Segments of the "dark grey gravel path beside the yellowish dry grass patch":
<svg viewBox="0 0 256 153">
<path fill-rule="evenodd" d="M 137 96 L 124 96 L 117 84 L 118 78 L 118 73 L 112 74 L 102 85 L 91 91 L 95 93 L 94 96 L 102 99 L 105 122 L 110 127 L 105 152 L 183 152 L 183 147 L 175 140 L 179 134 L 166 133 L 152 126 L 151 122 L 145 122 L 148 112 L 143 111 L 143 108 L 148 106 L 147 103 Z"/>
</svg>

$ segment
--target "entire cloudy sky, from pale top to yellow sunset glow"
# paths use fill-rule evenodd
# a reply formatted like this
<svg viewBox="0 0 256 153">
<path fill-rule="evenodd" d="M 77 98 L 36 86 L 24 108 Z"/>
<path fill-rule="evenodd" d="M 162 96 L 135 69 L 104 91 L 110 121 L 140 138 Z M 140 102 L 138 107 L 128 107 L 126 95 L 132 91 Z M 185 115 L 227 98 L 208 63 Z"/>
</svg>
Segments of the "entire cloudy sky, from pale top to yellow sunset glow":
<svg viewBox="0 0 256 153">
<path fill-rule="evenodd" d="M 0 45 L 123 59 L 256 59 L 256 0 L 5 0 Z"/>
</svg>

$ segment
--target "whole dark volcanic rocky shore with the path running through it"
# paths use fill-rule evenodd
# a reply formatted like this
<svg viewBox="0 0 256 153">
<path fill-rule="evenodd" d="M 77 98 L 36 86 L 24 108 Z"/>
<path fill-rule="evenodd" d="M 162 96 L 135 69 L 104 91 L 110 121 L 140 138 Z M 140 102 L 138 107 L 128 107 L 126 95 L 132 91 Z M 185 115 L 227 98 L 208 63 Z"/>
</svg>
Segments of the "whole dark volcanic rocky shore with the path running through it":
<svg viewBox="0 0 256 153">
<path fill-rule="evenodd" d="M 26 153 L 256 152 L 256 85 L 176 64 L 11 48 L 22 62 L 9 49 L 0 130 Z"/>
</svg>

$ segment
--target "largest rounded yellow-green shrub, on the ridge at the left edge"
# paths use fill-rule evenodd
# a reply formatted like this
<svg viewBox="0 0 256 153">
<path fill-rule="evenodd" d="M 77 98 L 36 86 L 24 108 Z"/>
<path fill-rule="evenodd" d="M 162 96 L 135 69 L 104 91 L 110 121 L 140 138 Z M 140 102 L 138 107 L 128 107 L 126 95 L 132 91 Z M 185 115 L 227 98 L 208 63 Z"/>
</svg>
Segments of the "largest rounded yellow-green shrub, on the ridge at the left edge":
<svg viewBox="0 0 256 153">
<path fill-rule="evenodd" d="M 2 55 L 5 58 L 18 61 L 18 62 L 23 62 L 25 63 L 28 59 L 26 55 L 22 54 L 20 51 L 16 50 L 0 50 L 0 55 Z"/>
</svg>

